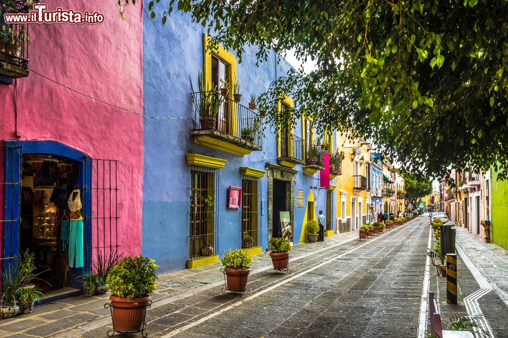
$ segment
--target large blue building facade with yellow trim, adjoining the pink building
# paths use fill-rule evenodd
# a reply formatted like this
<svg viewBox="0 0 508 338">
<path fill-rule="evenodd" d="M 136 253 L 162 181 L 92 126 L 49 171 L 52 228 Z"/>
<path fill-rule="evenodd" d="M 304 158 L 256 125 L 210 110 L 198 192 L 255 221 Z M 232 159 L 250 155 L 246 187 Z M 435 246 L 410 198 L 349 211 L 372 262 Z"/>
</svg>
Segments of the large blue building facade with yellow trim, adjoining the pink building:
<svg viewBox="0 0 508 338">
<path fill-rule="evenodd" d="M 266 91 L 291 65 L 272 54 L 258 67 L 252 48 L 238 63 L 234 51 L 207 52 L 207 41 L 189 16 L 173 13 L 162 26 L 145 8 L 144 115 L 157 119 L 144 119 L 142 254 L 157 261 L 159 272 L 211 264 L 233 248 L 261 253 L 281 235 L 295 245 L 305 242 L 305 224 L 319 210 L 327 215 L 328 234 L 335 232 L 339 172 L 329 173 L 327 163 L 335 132 L 318 137 L 300 118 L 295 126 L 261 133 L 265 118 L 247 107 L 249 94 Z M 198 93 L 200 73 L 208 89 L 229 89 L 210 129 L 198 114 L 213 100 L 207 91 Z M 234 83 L 241 86 L 239 102 Z M 279 109 L 296 103 L 274 98 Z M 329 148 L 320 151 L 323 163 L 314 164 L 306 158 L 318 138 Z"/>
</svg>

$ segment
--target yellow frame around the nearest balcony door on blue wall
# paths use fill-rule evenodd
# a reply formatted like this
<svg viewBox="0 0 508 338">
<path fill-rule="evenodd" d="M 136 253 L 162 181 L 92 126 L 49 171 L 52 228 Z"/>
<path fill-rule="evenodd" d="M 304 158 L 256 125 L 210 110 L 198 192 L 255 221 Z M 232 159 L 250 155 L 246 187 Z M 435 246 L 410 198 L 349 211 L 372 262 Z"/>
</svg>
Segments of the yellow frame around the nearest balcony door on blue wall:
<svg viewBox="0 0 508 338">
<path fill-rule="evenodd" d="M 208 50 L 211 37 L 208 34 L 203 34 L 203 74 L 205 76 L 206 88 L 212 88 L 212 55 L 221 61 L 228 64 L 228 78 L 229 78 L 229 93 L 228 97 L 233 100 L 233 82 L 236 83 L 236 56 L 228 52 L 224 47 L 217 45 L 217 49 L 213 51 Z M 217 88 L 219 89 L 219 88 Z M 229 134 L 236 135 L 235 131 L 238 129 L 237 119 L 237 106 L 236 104 L 229 105 L 228 121 L 229 123 Z"/>
</svg>

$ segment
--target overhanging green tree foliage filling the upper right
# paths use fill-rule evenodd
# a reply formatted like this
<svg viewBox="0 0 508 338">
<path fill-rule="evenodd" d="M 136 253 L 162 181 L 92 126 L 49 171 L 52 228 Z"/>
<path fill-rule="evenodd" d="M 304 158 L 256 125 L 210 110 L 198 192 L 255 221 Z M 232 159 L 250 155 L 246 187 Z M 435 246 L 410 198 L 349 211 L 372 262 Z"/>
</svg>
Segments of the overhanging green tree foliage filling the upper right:
<svg viewBox="0 0 508 338">
<path fill-rule="evenodd" d="M 128 0 L 123 0 L 128 2 Z M 291 96 L 293 118 L 371 139 L 406 168 L 441 176 L 508 174 L 508 2 L 506 0 L 159 0 L 151 17 L 189 13 L 214 43 L 295 50 L 315 61 L 274 82 L 259 106 Z M 156 14 L 157 12 L 157 14 Z M 212 44 L 213 48 L 213 44 Z"/>
</svg>

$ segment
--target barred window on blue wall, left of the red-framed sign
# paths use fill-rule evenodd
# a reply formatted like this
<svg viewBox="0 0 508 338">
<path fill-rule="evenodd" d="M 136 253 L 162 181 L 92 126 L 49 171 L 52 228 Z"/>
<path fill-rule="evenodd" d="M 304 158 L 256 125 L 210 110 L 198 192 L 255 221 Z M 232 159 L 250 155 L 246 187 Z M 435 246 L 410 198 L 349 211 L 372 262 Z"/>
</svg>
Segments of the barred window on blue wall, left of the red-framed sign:
<svg viewBox="0 0 508 338">
<path fill-rule="evenodd" d="M 219 172 L 191 166 L 189 189 L 189 260 L 217 253 Z"/>
</svg>

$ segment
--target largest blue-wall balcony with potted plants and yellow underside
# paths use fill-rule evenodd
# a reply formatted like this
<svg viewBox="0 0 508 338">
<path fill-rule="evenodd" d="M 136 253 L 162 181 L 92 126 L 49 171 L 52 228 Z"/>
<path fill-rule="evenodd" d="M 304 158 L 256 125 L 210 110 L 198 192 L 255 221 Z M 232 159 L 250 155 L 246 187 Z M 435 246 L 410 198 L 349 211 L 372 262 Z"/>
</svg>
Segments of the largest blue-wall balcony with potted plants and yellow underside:
<svg viewBox="0 0 508 338">
<path fill-rule="evenodd" d="M 245 156 L 262 150 L 262 120 L 255 111 L 217 92 L 192 93 L 194 143 Z"/>
</svg>

